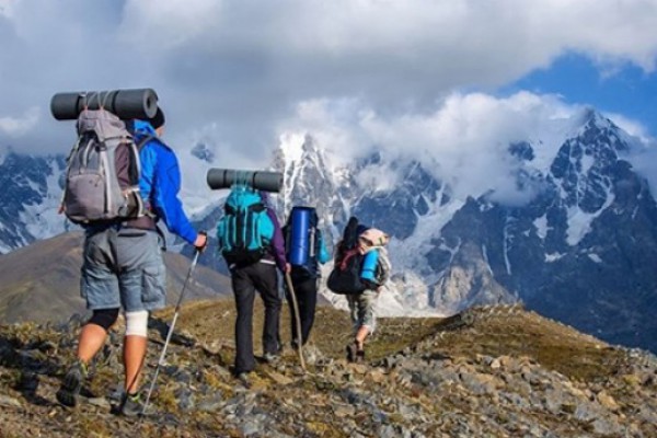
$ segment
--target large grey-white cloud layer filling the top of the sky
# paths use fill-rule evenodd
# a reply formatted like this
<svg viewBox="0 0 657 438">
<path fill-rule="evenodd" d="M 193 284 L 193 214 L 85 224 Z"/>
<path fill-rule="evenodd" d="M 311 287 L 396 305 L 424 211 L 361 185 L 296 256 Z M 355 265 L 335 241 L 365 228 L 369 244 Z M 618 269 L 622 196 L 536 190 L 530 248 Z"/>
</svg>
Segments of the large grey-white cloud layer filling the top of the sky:
<svg viewBox="0 0 657 438">
<path fill-rule="evenodd" d="M 302 105 L 298 122 L 311 123 L 318 102 L 331 102 L 322 111 L 338 118 L 366 124 L 359 110 L 345 110 L 356 105 L 400 129 L 460 131 L 468 141 L 503 129 L 495 115 L 463 131 L 458 112 L 422 114 L 454 90 L 494 92 L 566 53 L 604 71 L 631 62 L 652 72 L 655 28 L 653 0 L 0 0 L 0 114 L 47 114 L 58 91 L 152 87 L 172 138 L 215 126 L 227 160 L 232 150 L 268 158 L 277 127 Z M 464 95 L 451 104 L 468 100 L 485 114 L 495 106 L 485 94 Z M 24 131 L 22 148 L 66 149 L 72 129 L 56 125 Z M 361 135 L 320 130 L 333 145 Z"/>
</svg>

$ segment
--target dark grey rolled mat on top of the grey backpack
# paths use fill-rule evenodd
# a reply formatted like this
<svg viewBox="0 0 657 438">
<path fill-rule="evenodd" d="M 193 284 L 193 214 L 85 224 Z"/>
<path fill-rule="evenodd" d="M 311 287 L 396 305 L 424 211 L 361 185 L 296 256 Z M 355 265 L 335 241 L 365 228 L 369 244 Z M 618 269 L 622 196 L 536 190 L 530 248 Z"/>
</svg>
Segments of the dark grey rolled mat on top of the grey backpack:
<svg viewBox="0 0 657 438">
<path fill-rule="evenodd" d="M 58 120 L 77 119 L 85 106 L 102 106 L 124 120 L 148 119 L 158 112 L 158 94 L 152 89 L 80 91 L 57 93 L 50 100 L 50 112 Z"/>
</svg>

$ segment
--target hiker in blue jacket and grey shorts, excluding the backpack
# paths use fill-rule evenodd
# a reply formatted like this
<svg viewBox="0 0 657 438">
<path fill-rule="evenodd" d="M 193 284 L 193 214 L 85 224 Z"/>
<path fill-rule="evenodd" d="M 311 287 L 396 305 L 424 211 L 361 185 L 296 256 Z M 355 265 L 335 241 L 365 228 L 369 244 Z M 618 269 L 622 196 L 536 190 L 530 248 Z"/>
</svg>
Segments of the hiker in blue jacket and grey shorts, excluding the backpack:
<svg viewBox="0 0 657 438">
<path fill-rule="evenodd" d="M 141 412 L 139 380 L 148 344 L 149 312 L 164 307 L 165 266 L 163 241 L 155 223 L 166 228 L 197 250 L 206 246 L 205 233 L 194 230 L 177 195 L 181 174 L 177 159 L 161 139 L 164 114 L 150 120 L 134 120 L 134 137 L 140 150 L 141 198 L 150 214 L 137 219 L 85 228 L 81 295 L 93 311 L 80 333 L 77 362 L 67 372 L 57 400 L 74 406 L 87 378 L 87 367 L 102 348 L 107 331 L 123 308 L 125 395 L 119 411 L 127 416 Z"/>
</svg>

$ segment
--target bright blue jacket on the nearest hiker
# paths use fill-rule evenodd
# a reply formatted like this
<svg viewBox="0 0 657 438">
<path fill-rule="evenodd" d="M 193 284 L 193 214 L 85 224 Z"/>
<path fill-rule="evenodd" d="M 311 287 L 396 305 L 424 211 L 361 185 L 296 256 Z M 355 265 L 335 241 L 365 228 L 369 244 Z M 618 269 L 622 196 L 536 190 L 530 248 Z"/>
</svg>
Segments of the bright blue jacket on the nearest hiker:
<svg viewBox="0 0 657 438">
<path fill-rule="evenodd" d="M 135 120 L 135 142 L 139 145 L 151 136 L 139 152 L 141 196 L 159 219 L 172 233 L 194 244 L 198 234 L 183 210 L 177 195 L 181 189 L 181 170 L 173 150 L 158 138 L 148 122 Z"/>
</svg>

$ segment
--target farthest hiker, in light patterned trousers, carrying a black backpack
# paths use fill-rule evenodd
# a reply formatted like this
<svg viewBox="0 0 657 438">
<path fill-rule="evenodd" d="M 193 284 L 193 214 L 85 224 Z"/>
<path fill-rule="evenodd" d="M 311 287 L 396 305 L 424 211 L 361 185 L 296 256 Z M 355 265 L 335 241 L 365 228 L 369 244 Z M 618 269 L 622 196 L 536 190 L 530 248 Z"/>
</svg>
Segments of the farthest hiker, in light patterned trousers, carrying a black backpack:
<svg viewBox="0 0 657 438">
<path fill-rule="evenodd" d="M 349 218 L 343 239 L 336 246 L 334 268 L 326 286 L 345 295 L 349 304 L 354 341 L 346 347 L 347 360 L 365 361 L 365 343 L 377 327 L 374 304 L 390 277 L 390 260 L 385 245 L 390 238 L 383 231 Z"/>
</svg>

